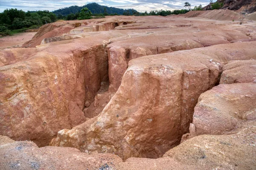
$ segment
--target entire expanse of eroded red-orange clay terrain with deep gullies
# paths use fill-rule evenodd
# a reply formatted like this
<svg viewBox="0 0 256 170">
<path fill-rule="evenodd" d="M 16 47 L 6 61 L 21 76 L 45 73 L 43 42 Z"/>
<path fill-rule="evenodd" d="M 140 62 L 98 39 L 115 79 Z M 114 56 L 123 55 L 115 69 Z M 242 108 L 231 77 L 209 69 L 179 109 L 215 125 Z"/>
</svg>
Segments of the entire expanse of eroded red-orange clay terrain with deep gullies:
<svg viewBox="0 0 256 170">
<path fill-rule="evenodd" d="M 1 50 L 0 169 L 255 169 L 252 16 L 63 21 Z"/>
</svg>

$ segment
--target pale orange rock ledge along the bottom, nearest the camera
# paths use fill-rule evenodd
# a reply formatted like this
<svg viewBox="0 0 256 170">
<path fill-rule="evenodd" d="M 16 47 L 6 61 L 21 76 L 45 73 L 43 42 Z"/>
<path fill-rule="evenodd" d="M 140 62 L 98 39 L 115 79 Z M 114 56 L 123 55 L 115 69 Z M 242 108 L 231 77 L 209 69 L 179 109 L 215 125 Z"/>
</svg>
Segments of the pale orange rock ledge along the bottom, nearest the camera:
<svg viewBox="0 0 256 170">
<path fill-rule="evenodd" d="M 14 142 L 0 136 L 0 169 L 254 169 L 256 127 L 247 125 L 232 135 L 201 135 L 169 150 L 162 158 L 129 158 L 113 154 L 81 153 L 69 147 L 41 147 L 32 142 Z M 4 139 L 3 139 L 4 137 Z"/>
</svg>

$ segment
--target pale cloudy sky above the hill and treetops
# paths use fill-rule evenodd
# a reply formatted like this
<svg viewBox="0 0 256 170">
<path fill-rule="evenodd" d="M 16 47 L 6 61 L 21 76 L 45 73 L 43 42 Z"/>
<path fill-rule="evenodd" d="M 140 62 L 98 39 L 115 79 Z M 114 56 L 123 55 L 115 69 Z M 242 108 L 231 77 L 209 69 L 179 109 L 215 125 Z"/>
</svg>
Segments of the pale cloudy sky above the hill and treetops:
<svg viewBox="0 0 256 170">
<path fill-rule="evenodd" d="M 6 8 L 17 8 L 23 11 L 54 11 L 59 8 L 73 5 L 83 6 L 93 2 L 116 8 L 134 8 L 137 11 L 144 12 L 160 9 L 182 9 L 186 1 L 188 1 L 192 7 L 200 4 L 202 4 L 202 6 L 209 4 L 209 0 L 0 0 L 0 12 L 3 12 Z"/>
</svg>

